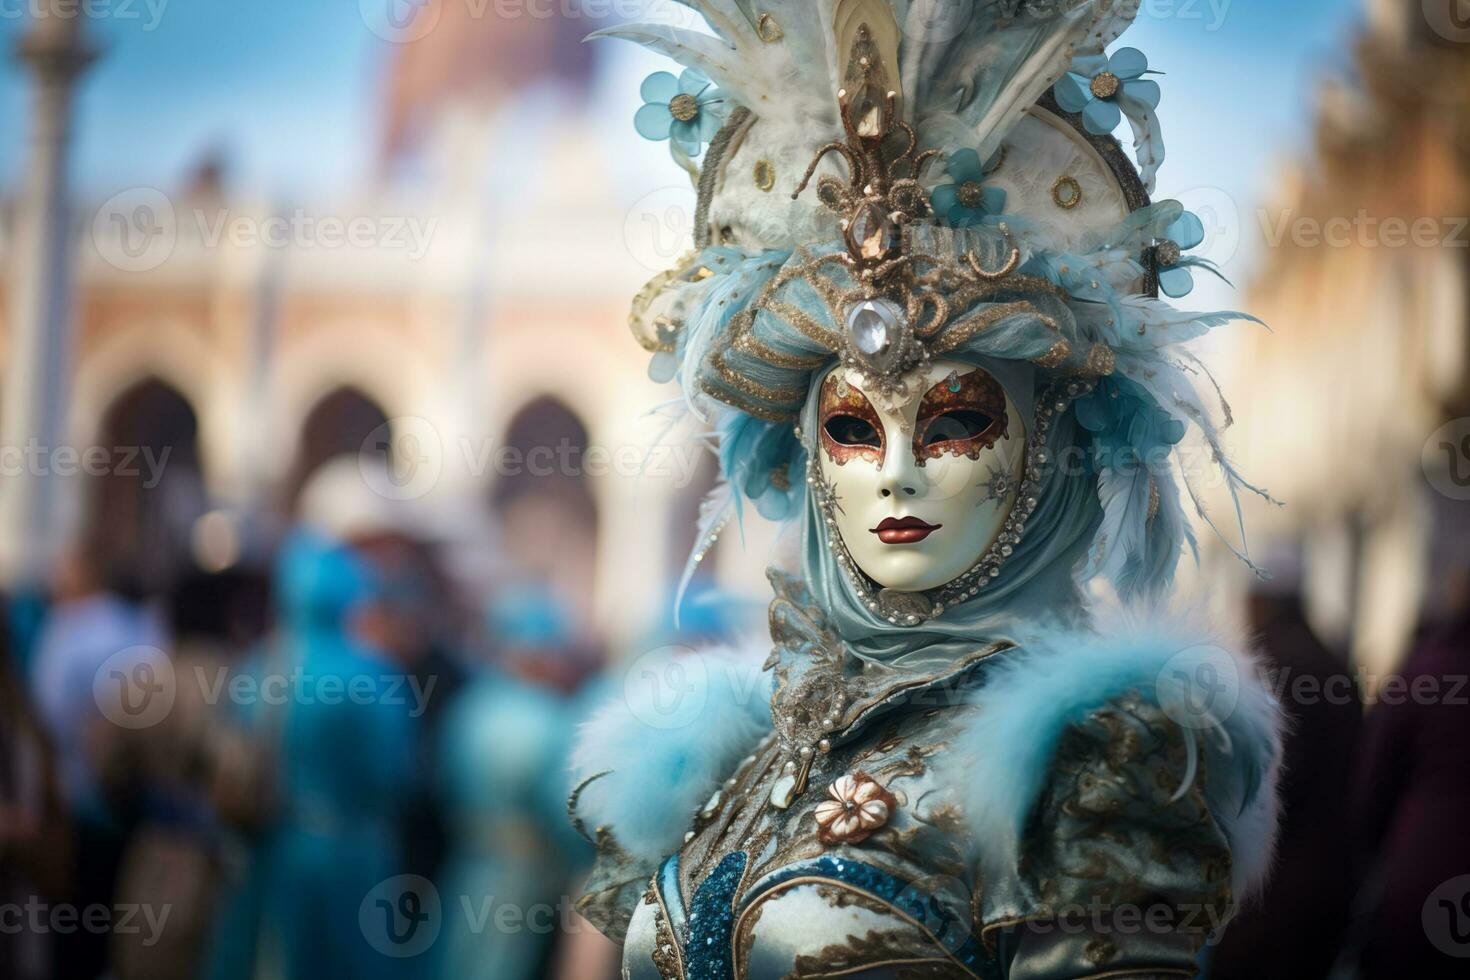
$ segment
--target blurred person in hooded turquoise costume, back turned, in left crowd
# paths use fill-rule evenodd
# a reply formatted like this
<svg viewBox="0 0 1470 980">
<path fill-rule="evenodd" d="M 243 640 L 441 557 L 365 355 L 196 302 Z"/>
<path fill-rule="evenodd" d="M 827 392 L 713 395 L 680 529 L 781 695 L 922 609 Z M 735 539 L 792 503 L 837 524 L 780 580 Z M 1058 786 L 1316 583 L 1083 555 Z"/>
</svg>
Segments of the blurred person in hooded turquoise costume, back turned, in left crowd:
<svg viewBox="0 0 1470 980">
<path fill-rule="evenodd" d="M 354 616 L 376 599 L 372 569 L 345 545 L 298 529 L 276 576 L 278 636 L 245 674 L 262 696 L 244 708 L 276 746 L 273 810 L 222 904 L 210 976 L 417 976 L 413 958 L 370 942 L 373 920 L 365 926 L 359 915 L 403 871 L 395 820 L 415 738 L 407 695 L 345 693 L 354 682 L 384 693 L 401 674 L 356 636 Z"/>
</svg>

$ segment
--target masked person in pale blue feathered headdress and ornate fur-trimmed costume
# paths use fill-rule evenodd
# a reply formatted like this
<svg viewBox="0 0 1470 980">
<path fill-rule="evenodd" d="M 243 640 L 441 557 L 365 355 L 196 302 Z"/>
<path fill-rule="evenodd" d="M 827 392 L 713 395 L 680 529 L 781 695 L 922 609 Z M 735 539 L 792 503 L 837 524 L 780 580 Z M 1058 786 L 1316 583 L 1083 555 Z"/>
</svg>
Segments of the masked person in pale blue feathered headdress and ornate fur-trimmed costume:
<svg viewBox="0 0 1470 980">
<path fill-rule="evenodd" d="M 716 433 L 695 560 L 750 505 L 797 555 L 764 671 L 642 664 L 685 707 L 584 732 L 584 914 L 635 979 L 1194 976 L 1269 862 L 1277 713 L 1160 611 L 1185 436 L 1254 488 L 1180 347 L 1239 314 L 1158 300 L 1208 263 L 1148 197 L 1133 7 L 688 6 L 713 37 L 607 32 L 686 66 L 637 123 L 698 187 L 632 326 Z"/>
</svg>

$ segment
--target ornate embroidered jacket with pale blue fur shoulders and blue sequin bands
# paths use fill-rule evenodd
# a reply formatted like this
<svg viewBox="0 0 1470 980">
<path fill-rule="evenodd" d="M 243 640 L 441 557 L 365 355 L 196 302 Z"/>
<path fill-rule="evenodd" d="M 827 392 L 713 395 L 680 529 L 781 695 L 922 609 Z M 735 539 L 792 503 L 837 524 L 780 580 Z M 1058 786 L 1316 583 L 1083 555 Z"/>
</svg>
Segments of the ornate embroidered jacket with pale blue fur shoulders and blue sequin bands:
<svg viewBox="0 0 1470 980">
<path fill-rule="evenodd" d="M 772 577 L 769 713 L 711 655 L 688 724 L 623 699 L 584 732 L 579 908 L 625 977 L 1195 974 L 1270 854 L 1277 713 L 1250 661 L 1117 627 L 916 677 Z M 1176 696 L 1204 666 L 1214 702 Z"/>
</svg>

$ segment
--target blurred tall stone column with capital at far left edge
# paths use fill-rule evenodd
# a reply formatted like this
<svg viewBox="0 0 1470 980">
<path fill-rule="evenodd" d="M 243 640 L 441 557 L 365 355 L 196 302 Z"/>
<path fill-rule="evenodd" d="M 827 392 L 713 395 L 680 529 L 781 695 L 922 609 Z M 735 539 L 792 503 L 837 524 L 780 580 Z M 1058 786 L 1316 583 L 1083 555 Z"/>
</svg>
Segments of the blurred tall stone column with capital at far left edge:
<svg viewBox="0 0 1470 980">
<path fill-rule="evenodd" d="M 0 445 L 22 473 L 0 483 L 0 579 L 40 580 L 63 544 L 49 453 L 66 438 L 72 242 L 66 169 L 72 93 L 93 60 L 81 15 L 37 13 L 15 50 L 35 96 L 9 256 L 10 345 Z"/>
</svg>

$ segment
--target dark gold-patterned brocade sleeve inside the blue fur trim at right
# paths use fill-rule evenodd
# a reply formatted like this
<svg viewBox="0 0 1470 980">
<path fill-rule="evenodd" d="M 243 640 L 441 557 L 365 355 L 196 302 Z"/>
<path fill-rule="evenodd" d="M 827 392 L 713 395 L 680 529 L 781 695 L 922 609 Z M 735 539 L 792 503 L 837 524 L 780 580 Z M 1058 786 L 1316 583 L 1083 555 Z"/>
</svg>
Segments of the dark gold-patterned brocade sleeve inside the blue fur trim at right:
<svg viewBox="0 0 1470 980">
<path fill-rule="evenodd" d="M 1180 726 L 1136 693 L 1063 732 L 1022 836 L 1030 911 L 1011 980 L 1194 976 L 1229 917 L 1232 857 L 1188 755 Z"/>
</svg>

